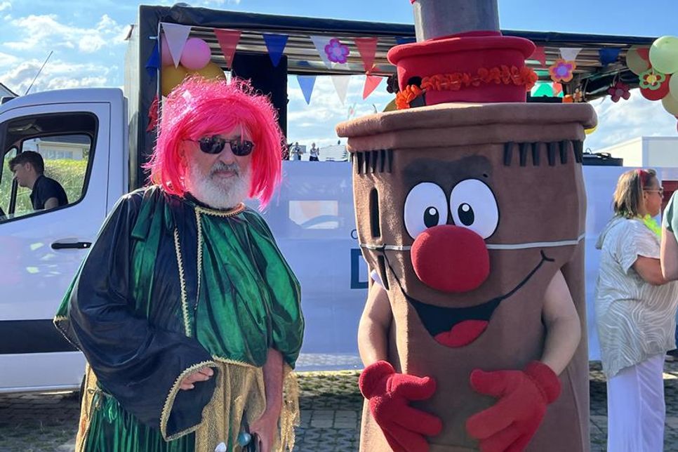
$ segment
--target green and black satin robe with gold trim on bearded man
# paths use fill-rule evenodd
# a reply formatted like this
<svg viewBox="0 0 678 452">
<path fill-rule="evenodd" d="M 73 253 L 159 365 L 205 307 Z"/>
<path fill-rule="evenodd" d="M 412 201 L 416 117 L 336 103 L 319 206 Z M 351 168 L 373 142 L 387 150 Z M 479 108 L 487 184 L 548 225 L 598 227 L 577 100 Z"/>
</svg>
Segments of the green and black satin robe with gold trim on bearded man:
<svg viewBox="0 0 678 452">
<path fill-rule="evenodd" d="M 278 448 L 293 444 L 300 290 L 255 211 L 217 211 L 159 187 L 126 195 L 55 324 L 88 361 L 79 450 L 232 450 L 241 423 L 265 408 L 269 348 L 286 364 Z M 202 366 L 215 377 L 179 390 Z"/>
</svg>

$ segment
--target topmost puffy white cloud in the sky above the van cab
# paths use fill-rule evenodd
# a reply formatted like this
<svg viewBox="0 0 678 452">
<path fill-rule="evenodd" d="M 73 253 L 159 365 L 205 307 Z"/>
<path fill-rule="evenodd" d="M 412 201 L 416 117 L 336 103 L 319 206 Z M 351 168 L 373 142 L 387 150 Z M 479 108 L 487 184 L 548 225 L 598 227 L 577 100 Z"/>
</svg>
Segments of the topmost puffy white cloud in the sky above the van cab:
<svg viewBox="0 0 678 452">
<path fill-rule="evenodd" d="M 59 22 L 56 15 L 29 15 L 11 20 L 11 25 L 20 30 L 18 41 L 4 43 L 15 51 L 38 48 L 76 48 L 91 53 L 104 46 L 124 44 L 126 25 L 118 25 L 108 15 L 102 15 L 93 28 L 74 27 Z"/>
</svg>

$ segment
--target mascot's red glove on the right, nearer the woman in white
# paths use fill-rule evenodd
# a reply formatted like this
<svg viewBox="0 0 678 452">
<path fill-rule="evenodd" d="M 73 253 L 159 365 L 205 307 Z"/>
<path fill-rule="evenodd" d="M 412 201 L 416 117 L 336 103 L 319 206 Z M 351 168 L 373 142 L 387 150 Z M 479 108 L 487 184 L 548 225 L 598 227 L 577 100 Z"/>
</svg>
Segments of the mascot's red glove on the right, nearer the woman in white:
<svg viewBox="0 0 678 452">
<path fill-rule="evenodd" d="M 547 405 L 560 394 L 558 375 L 539 361 L 532 361 L 524 371 L 476 369 L 471 373 L 471 387 L 499 399 L 466 422 L 467 432 L 480 441 L 482 452 L 523 451 Z"/>
</svg>

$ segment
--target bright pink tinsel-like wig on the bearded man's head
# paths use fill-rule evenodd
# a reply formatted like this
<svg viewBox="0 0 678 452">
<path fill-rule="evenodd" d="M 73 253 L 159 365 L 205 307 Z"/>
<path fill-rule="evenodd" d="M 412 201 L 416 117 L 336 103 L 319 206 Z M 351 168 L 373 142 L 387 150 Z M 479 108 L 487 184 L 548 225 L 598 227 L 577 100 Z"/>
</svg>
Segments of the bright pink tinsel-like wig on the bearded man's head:
<svg viewBox="0 0 678 452">
<path fill-rule="evenodd" d="M 257 95 L 248 81 L 190 77 L 173 89 L 163 104 L 158 142 L 146 168 L 150 182 L 171 194 L 186 192 L 179 148 L 182 140 L 199 140 L 242 127 L 254 142 L 249 197 L 261 207 L 270 201 L 281 177 L 281 144 L 277 112 L 270 100 Z"/>
</svg>

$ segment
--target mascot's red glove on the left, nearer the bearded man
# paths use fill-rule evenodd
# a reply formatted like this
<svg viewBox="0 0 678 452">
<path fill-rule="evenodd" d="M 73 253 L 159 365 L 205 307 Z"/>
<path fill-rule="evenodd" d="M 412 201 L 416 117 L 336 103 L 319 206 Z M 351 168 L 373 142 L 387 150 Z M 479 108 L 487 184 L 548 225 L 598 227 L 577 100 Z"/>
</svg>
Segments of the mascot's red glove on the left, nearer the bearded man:
<svg viewBox="0 0 678 452">
<path fill-rule="evenodd" d="M 442 430 L 439 418 L 409 406 L 412 400 L 429 399 L 436 390 L 430 377 L 396 373 L 386 361 L 377 361 L 360 374 L 360 392 L 369 401 L 370 411 L 396 452 L 426 452 L 424 435 Z"/>
</svg>

